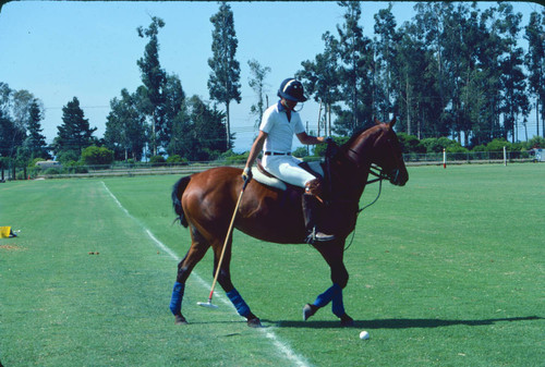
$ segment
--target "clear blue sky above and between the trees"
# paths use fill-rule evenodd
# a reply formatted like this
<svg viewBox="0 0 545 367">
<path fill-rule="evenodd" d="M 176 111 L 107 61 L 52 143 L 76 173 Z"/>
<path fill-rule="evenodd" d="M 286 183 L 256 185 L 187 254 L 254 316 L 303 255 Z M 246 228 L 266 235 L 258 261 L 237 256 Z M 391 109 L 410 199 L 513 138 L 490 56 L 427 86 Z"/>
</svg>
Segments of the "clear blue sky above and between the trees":
<svg viewBox="0 0 545 367">
<path fill-rule="evenodd" d="M 256 96 L 249 86 L 247 61 L 256 59 L 271 72 L 266 78 L 269 102 L 276 99 L 280 82 L 293 76 L 301 62 L 322 52 L 322 35 L 336 33 L 342 24 L 342 9 L 335 1 L 308 2 L 232 2 L 234 27 L 239 39 L 237 59 L 241 64 L 242 102 L 231 103 L 231 131 L 235 151 L 250 149 L 254 117 L 250 106 Z M 494 5 L 495 3 L 481 3 Z M 414 15 L 414 2 L 393 2 L 398 26 Z M 373 15 L 388 2 L 363 2 L 364 33 L 373 38 Z M 540 11 L 532 2 L 513 2 L 523 13 Z M 159 32 L 161 66 L 177 74 L 187 96 L 209 100 L 207 60 L 211 57 L 210 16 L 217 2 L 58 2 L 17 1 L 2 7 L 0 13 L 0 81 L 12 89 L 27 89 L 46 108 L 41 121 L 48 142 L 57 136 L 62 123 L 62 107 L 75 96 L 85 117 L 102 137 L 106 117 L 113 97 L 122 88 L 134 91 L 141 82 L 136 60 L 144 53 L 147 39 L 140 38 L 136 27 L 147 27 L 150 16 L 161 17 L 166 26 Z M 522 38 L 522 33 L 521 33 Z M 220 106 L 220 108 L 222 108 Z M 318 106 L 305 103 L 303 122 L 316 129 Z M 535 133 L 535 113 L 530 117 L 530 135 Z M 521 132 L 519 132 L 521 137 Z"/>
</svg>

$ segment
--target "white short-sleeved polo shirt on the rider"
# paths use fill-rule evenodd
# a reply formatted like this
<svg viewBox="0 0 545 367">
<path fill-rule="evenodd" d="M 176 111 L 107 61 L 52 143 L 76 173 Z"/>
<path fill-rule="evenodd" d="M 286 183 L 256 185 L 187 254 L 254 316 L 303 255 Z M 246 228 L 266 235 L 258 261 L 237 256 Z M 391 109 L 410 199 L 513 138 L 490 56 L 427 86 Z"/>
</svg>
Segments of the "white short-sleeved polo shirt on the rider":
<svg viewBox="0 0 545 367">
<path fill-rule="evenodd" d="M 263 150 L 276 152 L 291 152 L 293 135 L 305 131 L 298 112 L 291 111 L 291 121 L 288 121 L 280 101 L 265 110 L 259 130 L 268 134 Z"/>
</svg>

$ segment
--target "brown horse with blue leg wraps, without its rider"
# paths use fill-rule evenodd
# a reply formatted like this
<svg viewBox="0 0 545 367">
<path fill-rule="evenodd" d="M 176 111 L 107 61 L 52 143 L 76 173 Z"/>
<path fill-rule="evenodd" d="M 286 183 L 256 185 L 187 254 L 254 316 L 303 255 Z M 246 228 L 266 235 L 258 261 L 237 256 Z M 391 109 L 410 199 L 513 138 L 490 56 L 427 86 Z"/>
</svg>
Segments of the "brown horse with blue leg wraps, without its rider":
<svg viewBox="0 0 545 367">
<path fill-rule="evenodd" d="M 343 264 L 344 242 L 355 228 L 360 197 L 368 182 L 372 164 L 378 167 L 380 180 L 388 179 L 399 186 L 409 180 L 400 144 L 392 130 L 393 124 L 395 120 L 389 123 L 377 121 L 373 127 L 354 134 L 346 144 L 338 147 L 329 159 L 326 159 L 328 164 L 324 166 L 324 172 L 328 189 L 324 197 L 326 210 L 323 210 L 320 216 L 322 228 L 327 227 L 328 233 L 336 234 L 336 240 L 315 243 L 313 246 L 329 265 L 332 285 L 318 295 L 313 304 L 304 306 L 305 320 L 317 309 L 332 302 L 332 311 L 340 318 L 341 325 L 353 323 L 352 318 L 346 314 L 342 303 L 342 289 L 349 278 Z M 180 222 L 190 228 L 192 238 L 187 254 L 178 265 L 178 277 L 170 303 L 177 323 L 186 322 L 181 307 L 185 281 L 191 271 L 210 246 L 214 250 L 216 269 L 226 243 L 218 282 L 238 313 L 247 319 L 249 326 L 261 326 L 259 319 L 251 311 L 232 284 L 229 270 L 232 234 L 227 242 L 226 236 L 243 187 L 241 174 L 242 170 L 237 168 L 213 168 L 182 178 L 173 187 L 174 210 Z M 302 194 L 301 187 L 288 185 L 286 191 L 281 191 L 253 180 L 244 189 L 234 227 L 267 242 L 304 243 L 307 233 L 302 212 Z"/>
</svg>

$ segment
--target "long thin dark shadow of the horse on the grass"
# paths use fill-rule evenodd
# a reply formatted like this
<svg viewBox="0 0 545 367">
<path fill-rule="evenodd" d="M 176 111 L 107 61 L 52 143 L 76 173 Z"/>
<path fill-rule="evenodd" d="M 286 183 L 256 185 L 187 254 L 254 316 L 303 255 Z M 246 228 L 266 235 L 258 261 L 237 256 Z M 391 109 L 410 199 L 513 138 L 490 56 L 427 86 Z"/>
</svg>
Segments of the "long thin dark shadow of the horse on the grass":
<svg viewBox="0 0 545 367">
<path fill-rule="evenodd" d="M 413 329 L 413 328 L 443 328 L 457 325 L 465 325 L 470 327 L 489 326 L 501 321 L 530 321 L 543 320 L 540 316 L 526 317 L 509 317 L 484 320 L 441 320 L 441 319 L 378 319 L 378 320 L 361 320 L 354 321 L 353 328 L 364 329 Z M 339 328 L 339 321 L 294 321 L 294 320 L 264 320 L 270 322 L 277 328 L 311 328 L 311 329 L 328 329 Z"/>
</svg>

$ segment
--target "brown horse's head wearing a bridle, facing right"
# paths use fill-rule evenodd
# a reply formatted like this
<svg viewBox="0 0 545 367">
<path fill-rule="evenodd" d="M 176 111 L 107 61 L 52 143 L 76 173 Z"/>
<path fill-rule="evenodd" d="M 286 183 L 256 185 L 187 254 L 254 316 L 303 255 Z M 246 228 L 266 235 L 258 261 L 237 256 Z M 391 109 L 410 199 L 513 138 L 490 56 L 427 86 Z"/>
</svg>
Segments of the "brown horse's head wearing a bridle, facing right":
<svg viewBox="0 0 545 367">
<path fill-rule="evenodd" d="M 389 123 L 375 120 L 375 125 L 363 133 L 352 137 L 346 144 L 347 156 L 356 166 L 376 164 L 380 178 L 388 179 L 390 183 L 403 186 L 409 181 L 405 163 L 393 131 L 396 119 Z"/>
</svg>

